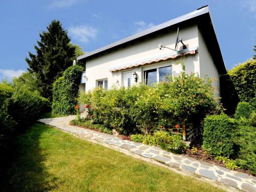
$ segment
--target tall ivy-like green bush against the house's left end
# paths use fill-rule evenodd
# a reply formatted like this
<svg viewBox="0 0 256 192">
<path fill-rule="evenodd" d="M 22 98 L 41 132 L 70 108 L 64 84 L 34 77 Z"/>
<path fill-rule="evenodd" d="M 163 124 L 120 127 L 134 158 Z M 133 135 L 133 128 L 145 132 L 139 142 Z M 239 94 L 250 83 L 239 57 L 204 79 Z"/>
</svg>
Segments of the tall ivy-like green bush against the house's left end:
<svg viewBox="0 0 256 192">
<path fill-rule="evenodd" d="M 83 68 L 71 66 L 53 84 L 52 113 L 59 115 L 75 114 L 79 83 Z"/>
</svg>

